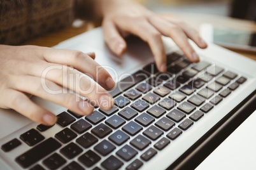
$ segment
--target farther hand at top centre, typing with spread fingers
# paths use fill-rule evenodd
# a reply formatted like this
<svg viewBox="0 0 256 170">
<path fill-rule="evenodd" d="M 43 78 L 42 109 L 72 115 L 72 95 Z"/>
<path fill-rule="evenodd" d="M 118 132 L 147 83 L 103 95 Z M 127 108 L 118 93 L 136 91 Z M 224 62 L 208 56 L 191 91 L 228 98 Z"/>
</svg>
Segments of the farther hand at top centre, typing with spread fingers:
<svg viewBox="0 0 256 170">
<path fill-rule="evenodd" d="M 162 35 L 171 37 L 191 62 L 199 62 L 199 56 L 188 43 L 188 38 L 200 48 L 207 47 L 199 33 L 180 20 L 152 13 L 131 0 L 103 0 L 102 3 L 104 38 L 116 55 L 122 55 L 127 48 L 124 37 L 134 34 L 148 42 L 157 69 L 166 72 Z"/>
</svg>

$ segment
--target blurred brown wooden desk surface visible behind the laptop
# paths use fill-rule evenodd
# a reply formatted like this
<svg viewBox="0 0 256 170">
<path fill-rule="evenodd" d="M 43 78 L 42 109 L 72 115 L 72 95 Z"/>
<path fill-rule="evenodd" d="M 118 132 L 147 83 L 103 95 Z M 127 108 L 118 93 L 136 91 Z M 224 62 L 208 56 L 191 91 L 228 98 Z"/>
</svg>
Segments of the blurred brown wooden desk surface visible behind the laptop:
<svg viewBox="0 0 256 170">
<path fill-rule="evenodd" d="M 169 14 L 164 14 L 169 15 Z M 256 31 L 256 23 L 250 22 L 247 20 L 238 20 L 230 18 L 227 16 L 215 16 L 215 15 L 202 15 L 202 14 L 192 14 L 192 13 L 172 13 L 170 16 L 175 16 L 181 20 L 187 22 L 189 25 L 192 25 L 195 29 L 199 30 L 201 23 L 212 23 L 213 25 L 227 25 L 228 27 L 254 30 Z M 48 33 L 41 37 L 36 37 L 31 41 L 27 41 L 24 44 L 32 44 L 37 46 L 55 46 L 61 41 L 69 39 L 73 36 L 81 34 L 87 30 L 93 29 L 94 27 L 99 26 L 99 23 L 87 23 L 84 22 L 80 27 L 68 27 L 57 32 Z M 234 50 L 233 50 L 234 51 Z M 256 53 L 249 53 L 246 51 L 235 51 L 241 55 L 247 56 L 256 60 Z"/>
</svg>

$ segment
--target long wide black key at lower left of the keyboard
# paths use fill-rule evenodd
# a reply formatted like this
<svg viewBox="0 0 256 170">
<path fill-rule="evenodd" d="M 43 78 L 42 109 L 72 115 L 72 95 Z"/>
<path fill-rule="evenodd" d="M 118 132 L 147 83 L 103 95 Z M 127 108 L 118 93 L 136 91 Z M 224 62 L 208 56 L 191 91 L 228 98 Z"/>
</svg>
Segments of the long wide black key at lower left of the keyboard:
<svg viewBox="0 0 256 170">
<path fill-rule="evenodd" d="M 42 159 L 46 155 L 51 154 L 59 147 L 61 147 L 59 142 L 53 138 L 49 138 L 31 150 L 28 150 L 24 154 L 18 156 L 15 160 L 20 164 L 20 166 L 26 168 L 38 162 L 38 160 Z"/>
</svg>

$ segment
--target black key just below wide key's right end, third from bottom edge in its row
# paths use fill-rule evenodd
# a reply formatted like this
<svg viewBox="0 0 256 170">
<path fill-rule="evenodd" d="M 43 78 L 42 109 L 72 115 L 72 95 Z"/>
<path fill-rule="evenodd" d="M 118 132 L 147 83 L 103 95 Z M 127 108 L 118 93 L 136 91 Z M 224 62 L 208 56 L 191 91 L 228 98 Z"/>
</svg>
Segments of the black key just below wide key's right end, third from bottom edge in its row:
<svg viewBox="0 0 256 170">
<path fill-rule="evenodd" d="M 78 147 L 78 145 L 73 142 L 69 143 L 66 147 L 60 149 L 60 153 L 68 159 L 72 159 L 82 152 L 82 148 Z"/>
</svg>

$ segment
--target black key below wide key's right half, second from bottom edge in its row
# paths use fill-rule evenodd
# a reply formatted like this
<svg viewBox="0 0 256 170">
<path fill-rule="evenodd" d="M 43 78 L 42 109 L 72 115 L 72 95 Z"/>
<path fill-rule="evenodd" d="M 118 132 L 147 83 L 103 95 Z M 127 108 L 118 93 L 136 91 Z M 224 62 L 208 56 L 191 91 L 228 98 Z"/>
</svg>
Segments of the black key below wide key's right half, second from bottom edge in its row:
<svg viewBox="0 0 256 170">
<path fill-rule="evenodd" d="M 59 154 L 50 155 L 47 159 L 43 160 L 43 164 L 49 169 L 58 169 L 60 166 L 64 165 L 67 161 L 60 157 Z"/>
</svg>

